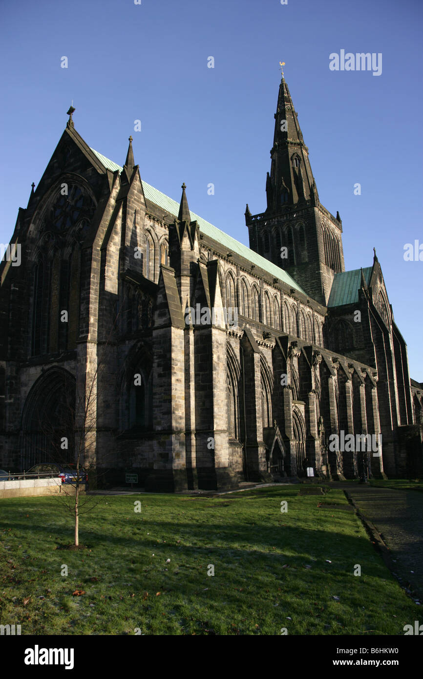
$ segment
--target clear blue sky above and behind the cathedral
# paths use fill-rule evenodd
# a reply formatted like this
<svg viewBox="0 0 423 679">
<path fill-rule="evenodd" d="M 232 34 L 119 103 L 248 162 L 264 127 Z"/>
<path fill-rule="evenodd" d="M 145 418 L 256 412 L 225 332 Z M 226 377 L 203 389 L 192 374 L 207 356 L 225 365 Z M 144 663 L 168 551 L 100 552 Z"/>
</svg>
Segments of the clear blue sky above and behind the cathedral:
<svg viewBox="0 0 423 679">
<path fill-rule="evenodd" d="M 0 11 L 0 242 L 73 100 L 91 147 L 122 165 L 132 134 L 145 181 L 176 200 L 185 181 L 191 210 L 248 244 L 245 204 L 265 209 L 284 61 L 320 200 L 342 217 L 346 268 L 371 265 L 376 247 L 423 381 L 423 261 L 403 259 L 405 243 L 423 243 L 421 0 L 9 0 Z M 340 50 L 382 52 L 382 75 L 330 71 Z"/>
</svg>

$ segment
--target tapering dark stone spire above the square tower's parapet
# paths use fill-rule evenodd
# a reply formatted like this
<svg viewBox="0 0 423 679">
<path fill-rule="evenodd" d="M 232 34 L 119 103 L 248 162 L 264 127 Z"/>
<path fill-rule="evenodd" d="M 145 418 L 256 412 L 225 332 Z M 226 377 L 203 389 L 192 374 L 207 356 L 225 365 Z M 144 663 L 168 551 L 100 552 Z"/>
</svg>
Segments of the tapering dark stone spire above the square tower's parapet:
<svg viewBox="0 0 423 679">
<path fill-rule="evenodd" d="M 277 212 L 280 207 L 306 200 L 315 202 L 317 196 L 308 148 L 283 74 L 274 118 L 274 142 L 270 151 L 272 162 L 266 179 L 268 212 Z"/>
</svg>

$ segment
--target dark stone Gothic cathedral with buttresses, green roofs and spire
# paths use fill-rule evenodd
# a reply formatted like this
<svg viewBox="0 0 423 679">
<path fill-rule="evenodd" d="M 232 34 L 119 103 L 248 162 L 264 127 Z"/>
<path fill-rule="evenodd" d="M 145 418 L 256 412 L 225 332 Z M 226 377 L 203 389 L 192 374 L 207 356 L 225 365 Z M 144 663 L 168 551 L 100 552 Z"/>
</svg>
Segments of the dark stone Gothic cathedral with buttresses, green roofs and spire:
<svg viewBox="0 0 423 679">
<path fill-rule="evenodd" d="M 78 456 L 162 492 L 421 477 L 423 384 L 376 253 L 345 270 L 283 75 L 249 247 L 74 111 L 0 265 L 0 466 Z"/>
</svg>

